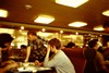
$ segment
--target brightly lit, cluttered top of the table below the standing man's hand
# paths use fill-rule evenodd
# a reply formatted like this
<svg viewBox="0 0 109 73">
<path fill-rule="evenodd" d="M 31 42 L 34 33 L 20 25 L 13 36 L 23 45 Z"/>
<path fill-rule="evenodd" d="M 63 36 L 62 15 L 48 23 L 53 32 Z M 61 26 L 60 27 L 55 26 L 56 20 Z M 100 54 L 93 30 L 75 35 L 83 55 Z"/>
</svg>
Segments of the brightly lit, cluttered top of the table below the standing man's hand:
<svg viewBox="0 0 109 73">
<path fill-rule="evenodd" d="M 37 73 L 37 72 L 41 72 L 41 71 L 51 71 L 52 70 L 51 68 L 35 65 L 34 62 L 27 62 L 27 63 L 19 62 L 19 63 L 20 63 L 20 66 L 16 70 L 14 70 L 17 73 L 22 73 L 22 72 Z M 13 71 L 13 73 L 15 73 L 14 71 Z M 11 72 L 12 72 L 12 70 L 11 70 Z"/>
</svg>

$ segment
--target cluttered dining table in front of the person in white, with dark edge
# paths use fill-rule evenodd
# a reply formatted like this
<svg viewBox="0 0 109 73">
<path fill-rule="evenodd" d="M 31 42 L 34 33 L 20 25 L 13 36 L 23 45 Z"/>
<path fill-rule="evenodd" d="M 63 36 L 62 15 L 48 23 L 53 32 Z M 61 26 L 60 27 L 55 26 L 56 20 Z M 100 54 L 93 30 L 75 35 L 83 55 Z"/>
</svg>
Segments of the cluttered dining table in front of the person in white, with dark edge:
<svg viewBox="0 0 109 73">
<path fill-rule="evenodd" d="M 34 62 L 17 62 L 19 66 L 11 69 L 8 73 L 55 73 L 53 68 L 39 66 Z"/>
</svg>

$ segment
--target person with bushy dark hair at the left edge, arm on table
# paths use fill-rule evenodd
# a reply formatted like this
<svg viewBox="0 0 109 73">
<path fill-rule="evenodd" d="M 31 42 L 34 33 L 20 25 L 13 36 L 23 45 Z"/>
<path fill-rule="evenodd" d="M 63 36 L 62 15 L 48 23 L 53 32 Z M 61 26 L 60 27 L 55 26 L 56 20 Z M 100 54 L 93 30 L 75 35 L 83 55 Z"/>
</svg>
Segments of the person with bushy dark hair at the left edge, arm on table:
<svg viewBox="0 0 109 73">
<path fill-rule="evenodd" d="M 11 42 L 13 37 L 10 34 L 1 33 L 0 34 L 0 73 L 5 73 L 12 68 L 17 68 L 19 64 L 13 60 L 4 60 L 5 54 L 2 51 L 7 51 L 11 48 Z M 3 57 L 4 56 L 4 57 Z M 8 56 L 7 56 L 8 57 Z"/>
</svg>

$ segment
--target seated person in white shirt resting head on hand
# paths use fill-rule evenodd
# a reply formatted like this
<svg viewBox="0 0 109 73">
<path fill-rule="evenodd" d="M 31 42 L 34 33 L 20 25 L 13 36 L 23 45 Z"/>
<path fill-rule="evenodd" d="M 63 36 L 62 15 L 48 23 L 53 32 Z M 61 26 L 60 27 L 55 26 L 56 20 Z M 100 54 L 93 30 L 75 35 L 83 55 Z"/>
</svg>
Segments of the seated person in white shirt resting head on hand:
<svg viewBox="0 0 109 73">
<path fill-rule="evenodd" d="M 49 57 L 50 52 L 53 52 L 53 54 Z M 73 63 L 61 50 L 61 42 L 57 38 L 48 41 L 44 66 L 55 68 L 57 73 L 75 73 Z"/>
</svg>

